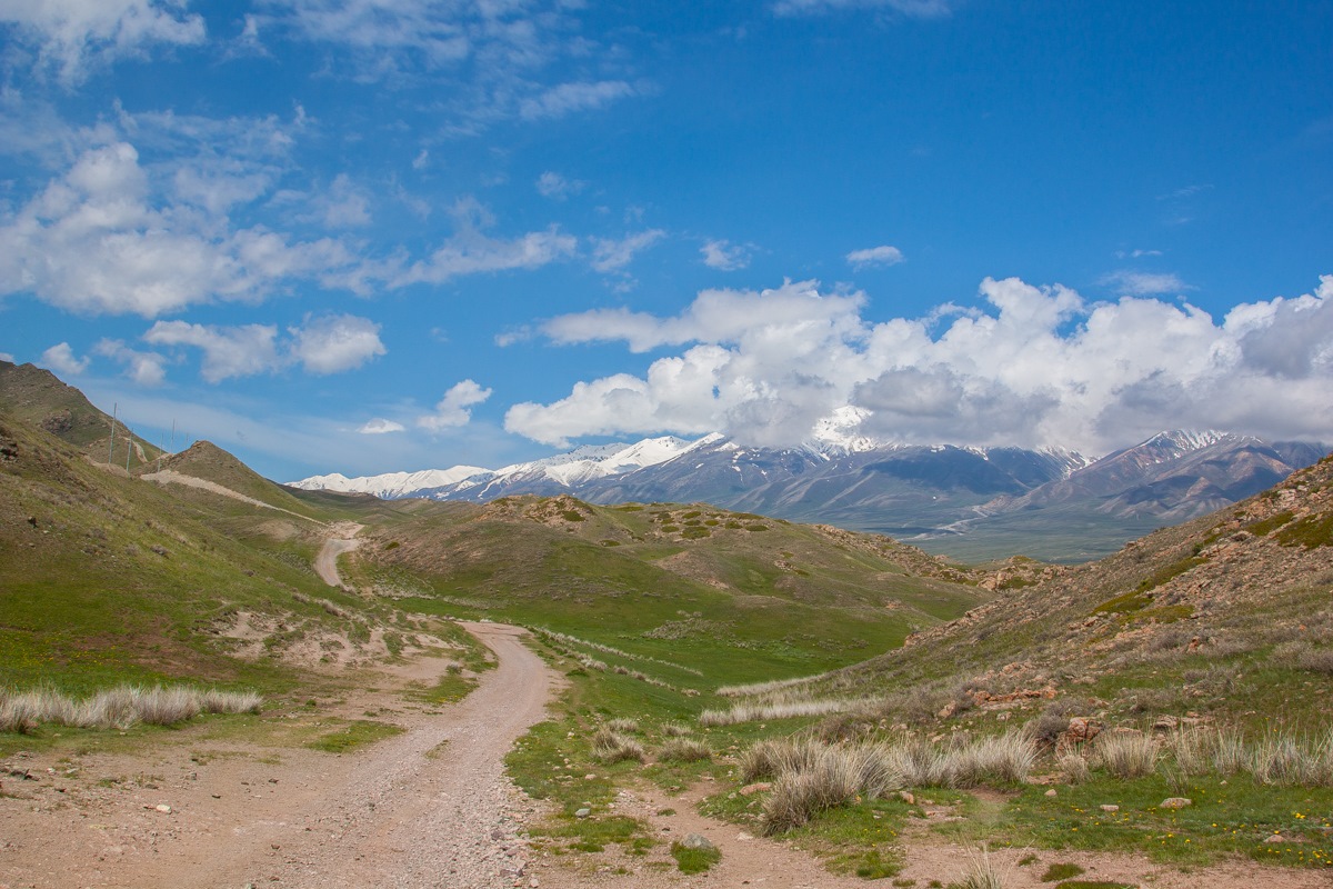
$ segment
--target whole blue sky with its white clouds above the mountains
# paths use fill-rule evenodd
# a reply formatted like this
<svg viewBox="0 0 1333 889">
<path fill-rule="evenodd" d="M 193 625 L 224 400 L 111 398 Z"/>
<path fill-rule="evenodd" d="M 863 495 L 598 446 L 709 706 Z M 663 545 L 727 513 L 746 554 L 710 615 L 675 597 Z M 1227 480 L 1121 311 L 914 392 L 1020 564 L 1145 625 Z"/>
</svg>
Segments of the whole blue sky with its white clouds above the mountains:
<svg viewBox="0 0 1333 889">
<path fill-rule="evenodd" d="M 0 0 L 0 355 L 280 480 L 1333 441 L 1328 3 L 704 5 Z"/>
</svg>

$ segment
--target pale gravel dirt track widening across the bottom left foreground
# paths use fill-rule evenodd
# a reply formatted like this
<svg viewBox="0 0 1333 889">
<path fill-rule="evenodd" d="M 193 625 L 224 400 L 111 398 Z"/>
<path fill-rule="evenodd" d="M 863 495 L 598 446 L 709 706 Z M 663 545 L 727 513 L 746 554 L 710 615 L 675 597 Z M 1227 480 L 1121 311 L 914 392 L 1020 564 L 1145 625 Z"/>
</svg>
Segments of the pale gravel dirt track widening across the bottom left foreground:
<svg viewBox="0 0 1333 889">
<path fill-rule="evenodd" d="M 499 668 L 443 712 L 385 713 L 392 677 L 371 677 L 381 688 L 341 712 L 407 730 L 357 753 L 209 741 L 195 725 L 137 754 L 8 757 L 0 886 L 512 886 L 532 804 L 503 757 L 543 718 L 553 674 L 520 629 L 467 626 Z"/>
</svg>

